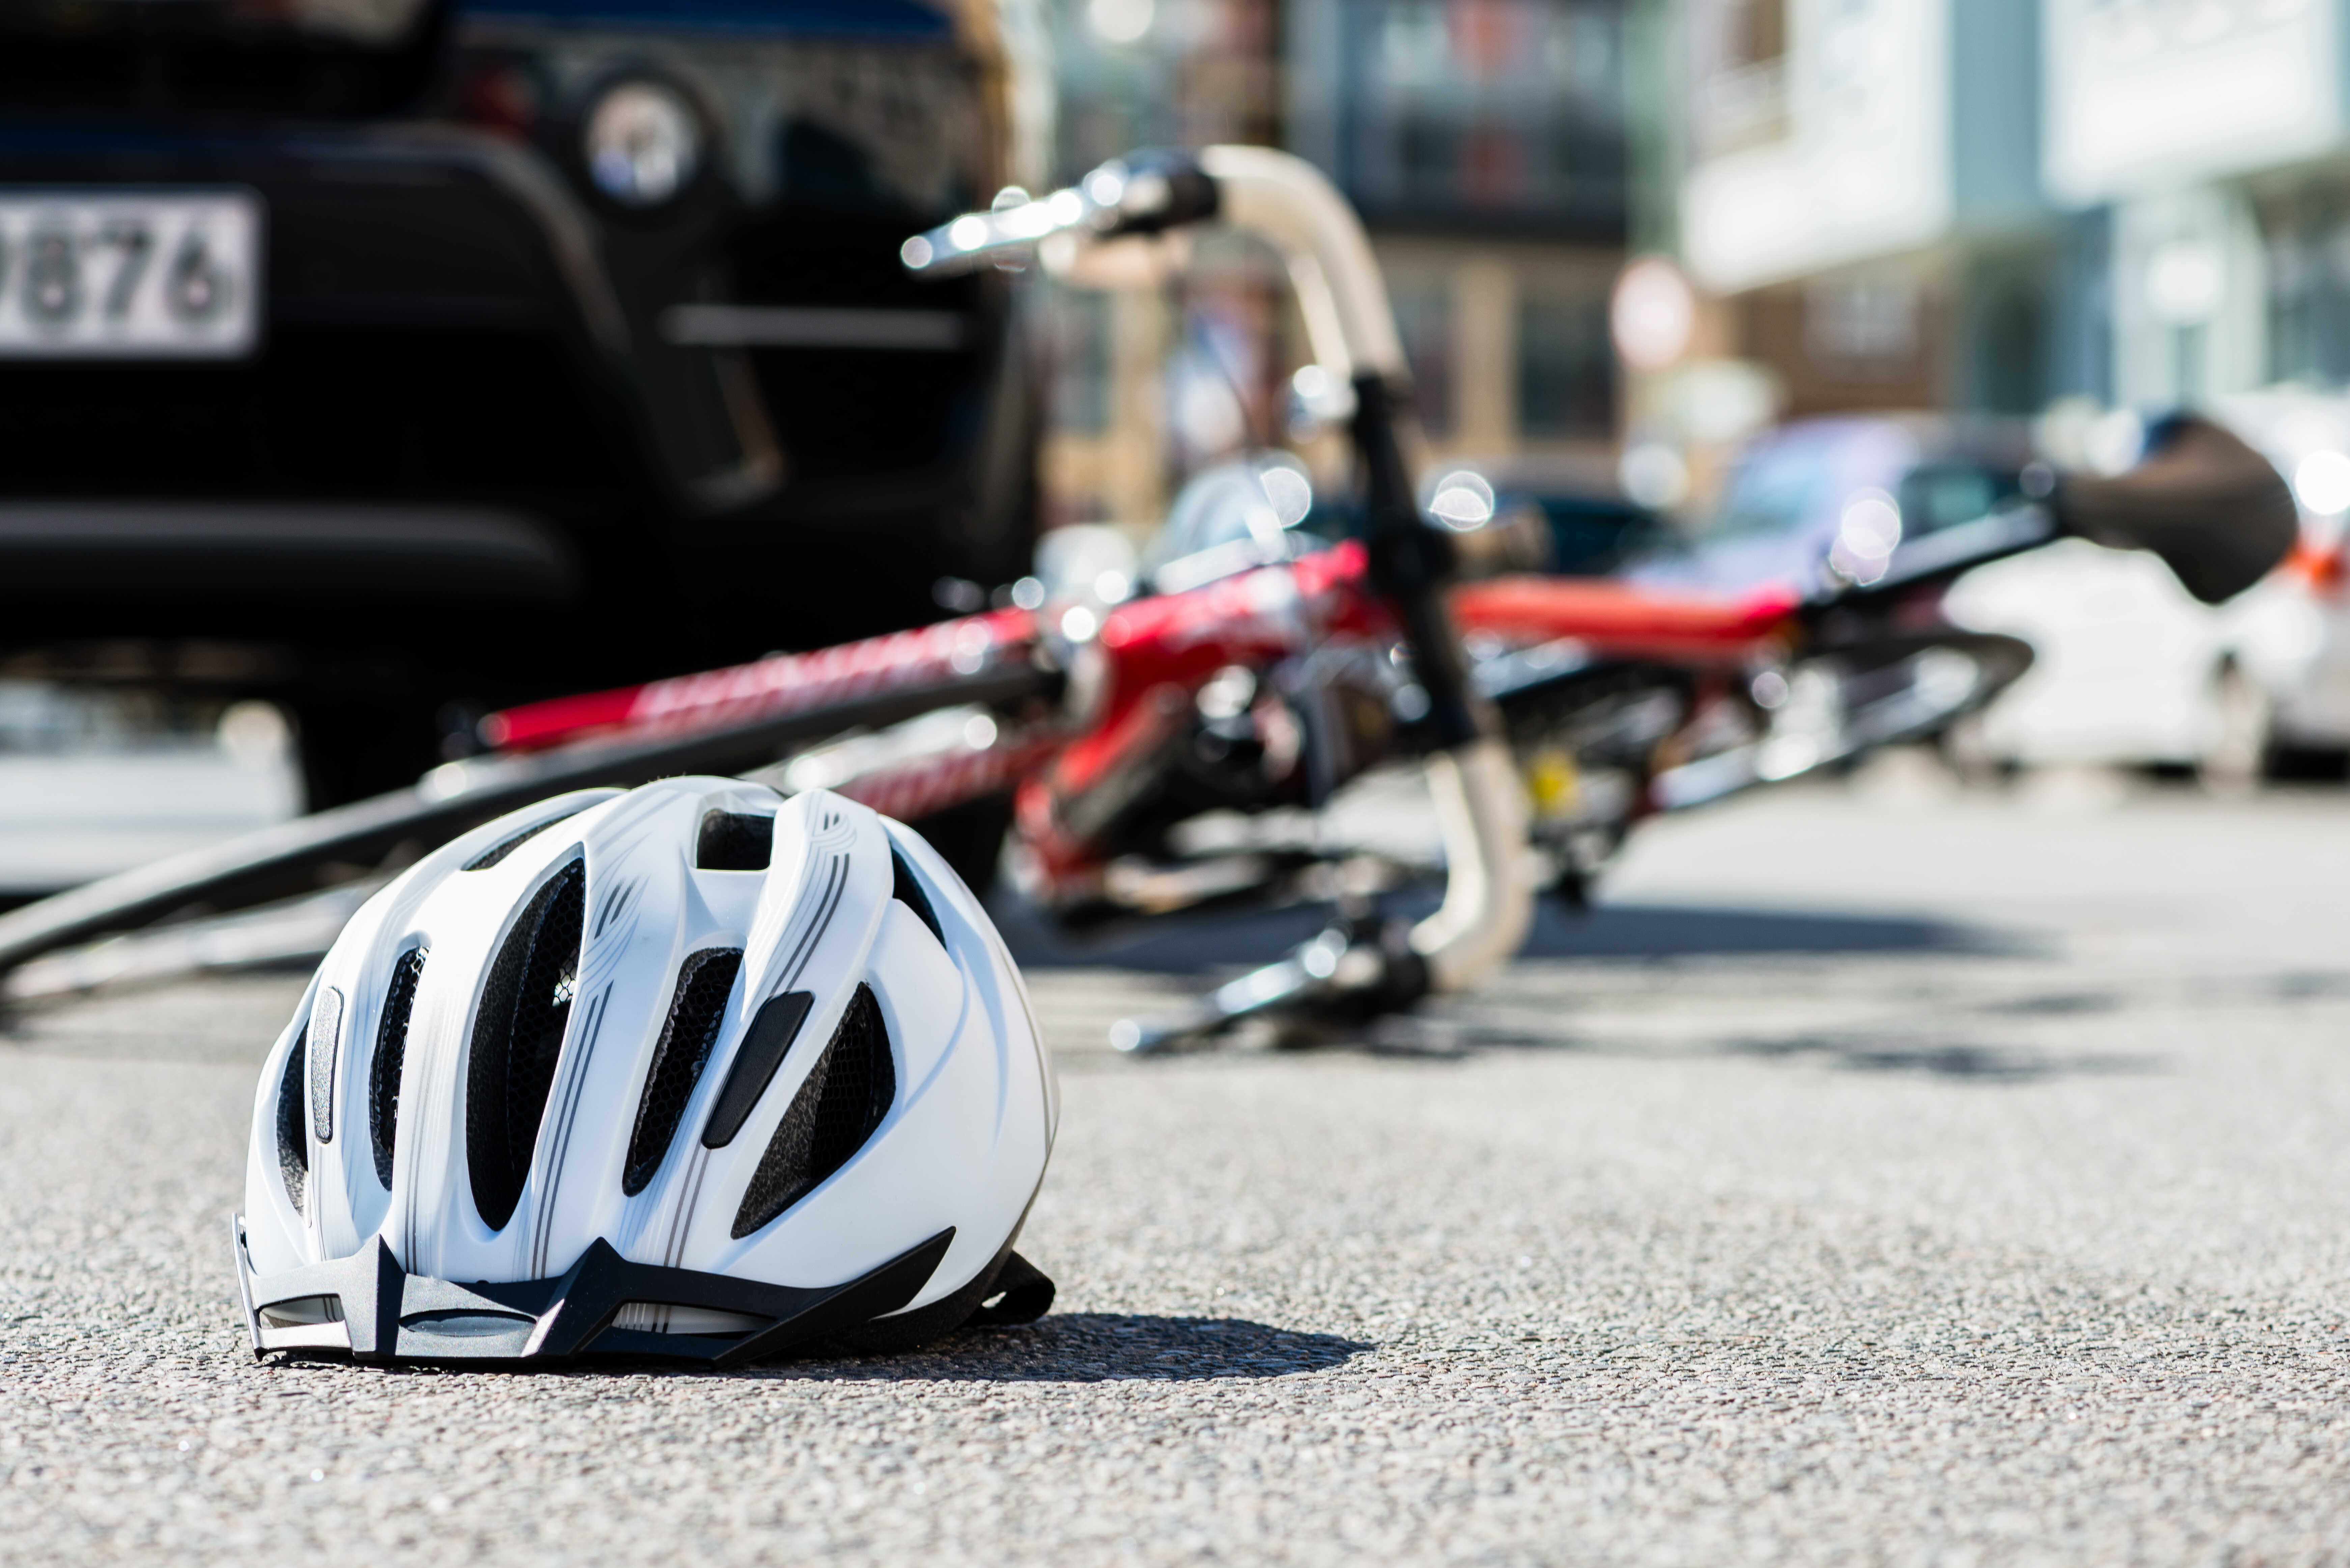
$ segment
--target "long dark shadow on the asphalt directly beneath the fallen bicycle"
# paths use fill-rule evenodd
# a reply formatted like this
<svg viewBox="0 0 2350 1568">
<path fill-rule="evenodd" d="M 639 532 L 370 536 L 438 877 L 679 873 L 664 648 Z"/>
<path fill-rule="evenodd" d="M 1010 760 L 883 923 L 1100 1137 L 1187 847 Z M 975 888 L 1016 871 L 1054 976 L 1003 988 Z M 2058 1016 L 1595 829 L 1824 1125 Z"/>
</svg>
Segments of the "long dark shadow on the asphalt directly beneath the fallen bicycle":
<svg viewBox="0 0 2350 1568">
<path fill-rule="evenodd" d="M 1436 898 L 1398 896 L 1389 910 L 1419 919 Z M 1128 919 L 1067 933 L 1013 898 L 992 905 L 996 929 L 1025 969 L 1133 969 L 1201 976 L 1271 964 L 1321 931 L 1325 905 L 1285 910 L 1198 910 L 1156 922 Z M 1600 905 L 1586 914 L 1542 900 L 1518 957 L 1772 957 L 1835 952 L 2016 954 L 2026 943 L 2000 931 L 1889 914 L 1805 914 L 1793 910 L 1716 910 L 1701 905 Z"/>
</svg>

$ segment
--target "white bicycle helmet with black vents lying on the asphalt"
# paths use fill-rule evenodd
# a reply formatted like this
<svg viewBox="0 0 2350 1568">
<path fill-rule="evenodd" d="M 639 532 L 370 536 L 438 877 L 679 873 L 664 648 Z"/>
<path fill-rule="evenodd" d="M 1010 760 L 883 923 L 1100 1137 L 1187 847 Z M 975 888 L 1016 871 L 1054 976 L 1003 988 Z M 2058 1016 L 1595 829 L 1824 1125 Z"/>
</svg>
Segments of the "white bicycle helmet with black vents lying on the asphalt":
<svg viewBox="0 0 2350 1568">
<path fill-rule="evenodd" d="M 1020 973 L 919 835 L 822 790 L 583 790 L 367 900 L 270 1051 L 256 1352 L 902 1349 L 1032 1321 L 1060 1119 Z"/>
</svg>

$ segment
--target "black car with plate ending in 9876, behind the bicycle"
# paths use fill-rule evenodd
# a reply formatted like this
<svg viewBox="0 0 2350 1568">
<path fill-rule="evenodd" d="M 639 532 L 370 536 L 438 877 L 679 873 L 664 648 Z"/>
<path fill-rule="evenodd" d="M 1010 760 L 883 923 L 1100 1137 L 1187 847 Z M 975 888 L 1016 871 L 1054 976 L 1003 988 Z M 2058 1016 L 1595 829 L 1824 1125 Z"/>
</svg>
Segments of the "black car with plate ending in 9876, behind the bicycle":
<svg viewBox="0 0 2350 1568">
<path fill-rule="evenodd" d="M 1039 400 L 952 0 L 0 7 L 0 672 L 268 696 L 310 804 L 468 705 L 1018 576 Z"/>
</svg>

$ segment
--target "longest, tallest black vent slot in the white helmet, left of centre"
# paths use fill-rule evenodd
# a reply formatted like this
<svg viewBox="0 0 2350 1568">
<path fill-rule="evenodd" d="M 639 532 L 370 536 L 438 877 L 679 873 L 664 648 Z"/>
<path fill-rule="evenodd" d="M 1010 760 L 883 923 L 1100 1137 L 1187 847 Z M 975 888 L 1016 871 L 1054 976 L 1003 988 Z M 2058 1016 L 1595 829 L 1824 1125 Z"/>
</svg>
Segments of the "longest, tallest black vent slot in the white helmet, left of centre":
<svg viewBox="0 0 2350 1568">
<path fill-rule="evenodd" d="M 465 1063 L 465 1166 L 472 1206 L 491 1229 L 515 1218 L 531 1173 L 571 1023 L 585 912 L 588 867 L 571 860 L 531 896 L 482 987 Z"/>
</svg>

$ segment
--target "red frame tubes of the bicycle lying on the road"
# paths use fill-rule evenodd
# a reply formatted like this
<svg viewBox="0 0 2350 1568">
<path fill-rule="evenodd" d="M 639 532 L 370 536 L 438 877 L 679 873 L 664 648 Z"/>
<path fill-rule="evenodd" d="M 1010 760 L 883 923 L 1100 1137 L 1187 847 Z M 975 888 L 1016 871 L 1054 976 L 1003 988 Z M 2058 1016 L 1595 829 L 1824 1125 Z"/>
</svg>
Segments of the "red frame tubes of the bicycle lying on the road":
<svg viewBox="0 0 2350 1568">
<path fill-rule="evenodd" d="M 1262 675 L 1309 649 L 1347 642 L 1384 651 L 1401 630 L 1354 541 L 1187 592 L 1116 604 L 1076 639 L 1055 611 L 1060 607 L 999 609 L 813 654 L 529 703 L 489 715 L 482 738 L 508 752 L 667 738 L 1055 661 L 1074 684 L 1074 701 L 1062 710 L 992 726 L 982 745 L 895 759 L 832 788 L 877 811 L 921 818 L 1018 785 L 1025 846 L 1048 884 L 1069 884 L 1100 860 L 1088 820 L 1097 816 L 1093 806 L 1130 792 L 1137 773 L 1159 766 L 1217 672 Z M 1513 576 L 1455 590 L 1452 611 L 1464 635 L 1511 644 L 1574 642 L 1598 658 L 1718 670 L 1784 651 L 1795 602 L 1784 592 L 1668 595 L 1607 581 Z"/>
</svg>

